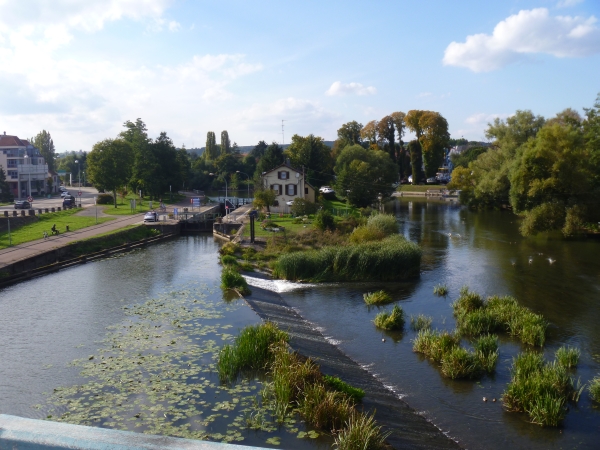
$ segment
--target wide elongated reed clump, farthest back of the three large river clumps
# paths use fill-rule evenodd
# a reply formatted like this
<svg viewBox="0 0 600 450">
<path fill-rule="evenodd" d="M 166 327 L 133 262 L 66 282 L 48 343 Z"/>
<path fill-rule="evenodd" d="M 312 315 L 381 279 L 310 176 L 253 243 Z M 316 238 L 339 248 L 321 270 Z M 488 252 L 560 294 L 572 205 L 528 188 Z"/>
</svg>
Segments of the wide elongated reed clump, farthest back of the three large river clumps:
<svg viewBox="0 0 600 450">
<path fill-rule="evenodd" d="M 494 296 L 484 301 L 479 294 L 463 288 L 452 308 L 458 333 L 463 336 L 506 332 L 532 346 L 542 347 L 546 341 L 548 322 L 520 306 L 513 297 Z"/>
</svg>

